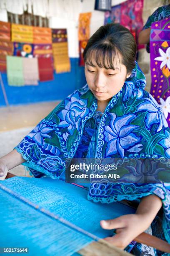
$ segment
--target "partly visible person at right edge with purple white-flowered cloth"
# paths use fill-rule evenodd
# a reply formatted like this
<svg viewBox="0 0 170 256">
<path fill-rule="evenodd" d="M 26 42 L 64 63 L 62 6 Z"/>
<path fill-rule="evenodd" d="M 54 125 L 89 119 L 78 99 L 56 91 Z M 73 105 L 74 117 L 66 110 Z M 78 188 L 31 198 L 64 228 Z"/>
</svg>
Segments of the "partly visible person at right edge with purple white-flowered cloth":
<svg viewBox="0 0 170 256">
<path fill-rule="evenodd" d="M 170 4 L 159 7 L 148 18 L 139 35 L 150 53 L 150 94 L 162 108 L 170 126 Z M 157 118 L 155 116 L 155 118 Z"/>
</svg>

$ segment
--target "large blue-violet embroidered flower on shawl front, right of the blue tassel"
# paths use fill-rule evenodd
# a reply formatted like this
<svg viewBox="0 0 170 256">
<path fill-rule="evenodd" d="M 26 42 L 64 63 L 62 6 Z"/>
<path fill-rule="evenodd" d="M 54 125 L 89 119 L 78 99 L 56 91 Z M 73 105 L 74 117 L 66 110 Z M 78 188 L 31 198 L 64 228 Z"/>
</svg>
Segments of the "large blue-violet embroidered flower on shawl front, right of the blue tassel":
<svg viewBox="0 0 170 256">
<path fill-rule="evenodd" d="M 132 131 L 138 127 L 138 125 L 129 125 L 136 115 L 128 114 L 122 117 L 116 117 L 115 113 L 111 113 L 110 126 L 105 126 L 105 140 L 107 143 L 106 156 L 116 154 L 117 151 L 120 156 L 124 156 L 124 149 L 135 145 L 140 141 L 140 138 L 136 137 Z"/>
</svg>

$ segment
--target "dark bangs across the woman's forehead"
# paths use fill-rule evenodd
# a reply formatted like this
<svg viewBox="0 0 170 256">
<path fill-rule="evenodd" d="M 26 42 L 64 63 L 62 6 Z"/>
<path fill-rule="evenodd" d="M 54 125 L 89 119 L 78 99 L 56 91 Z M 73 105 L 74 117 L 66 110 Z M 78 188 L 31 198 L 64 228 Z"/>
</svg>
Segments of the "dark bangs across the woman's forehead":
<svg viewBox="0 0 170 256">
<path fill-rule="evenodd" d="M 117 62 L 120 66 L 121 61 L 118 51 L 116 47 L 109 44 L 92 47 L 88 49 L 85 56 L 85 64 L 89 64 L 92 67 L 95 67 L 97 64 L 100 68 L 115 70 L 115 68 L 118 68 Z"/>
</svg>

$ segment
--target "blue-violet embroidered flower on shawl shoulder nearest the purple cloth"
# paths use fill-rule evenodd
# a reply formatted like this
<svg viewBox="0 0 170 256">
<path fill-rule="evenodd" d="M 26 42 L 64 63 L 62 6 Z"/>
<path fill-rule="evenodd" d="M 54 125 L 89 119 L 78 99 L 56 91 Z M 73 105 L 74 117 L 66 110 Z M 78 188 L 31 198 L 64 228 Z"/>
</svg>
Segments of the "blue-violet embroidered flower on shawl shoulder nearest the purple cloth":
<svg viewBox="0 0 170 256">
<path fill-rule="evenodd" d="M 157 129 L 157 132 L 158 132 L 163 128 L 163 126 L 168 127 L 168 123 L 165 119 L 162 109 L 159 107 L 156 100 L 151 95 L 149 96 L 150 98 L 144 98 L 145 102 L 142 102 L 138 106 L 137 112 L 141 110 L 147 111 L 148 114 L 146 115 L 146 118 L 145 118 L 146 126 L 150 128 L 150 126 L 153 125 L 154 123 L 158 123 L 159 124 Z"/>
</svg>

